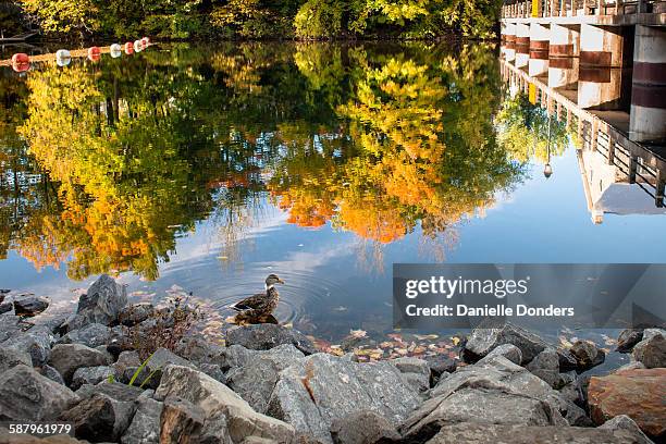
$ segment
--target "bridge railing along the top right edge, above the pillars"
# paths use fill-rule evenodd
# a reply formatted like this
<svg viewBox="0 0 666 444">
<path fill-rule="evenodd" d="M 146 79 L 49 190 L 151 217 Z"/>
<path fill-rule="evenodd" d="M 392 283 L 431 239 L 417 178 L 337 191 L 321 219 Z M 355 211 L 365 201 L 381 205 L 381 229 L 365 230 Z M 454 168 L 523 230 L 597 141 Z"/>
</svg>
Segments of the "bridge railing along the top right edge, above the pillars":
<svg viewBox="0 0 666 444">
<path fill-rule="evenodd" d="M 666 12 L 664 0 L 527 0 L 502 7 L 502 18 Z"/>
</svg>

